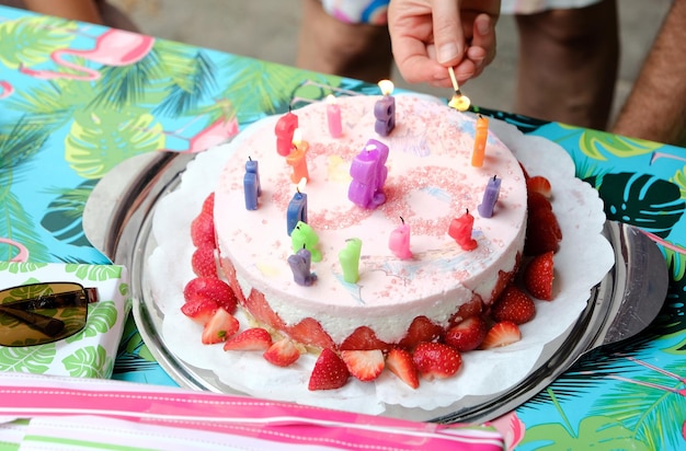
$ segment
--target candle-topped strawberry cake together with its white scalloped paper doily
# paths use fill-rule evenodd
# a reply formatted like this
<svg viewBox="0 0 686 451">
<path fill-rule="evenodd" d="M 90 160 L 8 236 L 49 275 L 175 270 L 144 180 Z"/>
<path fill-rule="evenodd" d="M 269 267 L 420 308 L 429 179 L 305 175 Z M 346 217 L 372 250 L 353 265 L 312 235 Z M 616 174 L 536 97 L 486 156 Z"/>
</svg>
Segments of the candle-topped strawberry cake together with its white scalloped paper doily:
<svg viewBox="0 0 686 451">
<path fill-rule="evenodd" d="M 602 201 L 559 146 L 491 120 L 475 166 L 476 116 L 395 97 L 387 136 L 375 128 L 380 96 L 339 97 L 340 135 L 325 102 L 295 109 L 301 138 L 288 152 L 275 130 L 291 131 L 284 123 L 294 117 L 261 119 L 198 154 L 156 207 L 147 271 L 160 336 L 183 365 L 210 370 L 214 390 L 418 419 L 468 408 L 554 352 L 611 266 Z M 381 146 L 385 160 L 374 152 Z M 306 167 L 296 148 L 307 150 Z M 361 159 L 382 162 L 374 172 L 382 183 L 353 169 Z M 553 181 L 547 198 L 533 189 L 537 178 Z M 354 181 L 373 186 L 369 204 L 356 203 L 365 192 Z M 533 226 L 546 223 L 563 277 L 553 285 L 552 267 L 538 266 L 533 279 L 553 288 L 552 302 L 526 284 L 533 263 L 552 263 L 552 252 L 529 248 L 547 233 Z M 513 287 L 535 308 L 522 309 Z M 508 298 L 526 319 L 503 319 Z M 508 327 L 491 336 L 499 324 Z M 477 339 L 472 350 L 456 343 L 460 331 Z M 432 362 L 435 347 L 451 352 Z"/>
</svg>

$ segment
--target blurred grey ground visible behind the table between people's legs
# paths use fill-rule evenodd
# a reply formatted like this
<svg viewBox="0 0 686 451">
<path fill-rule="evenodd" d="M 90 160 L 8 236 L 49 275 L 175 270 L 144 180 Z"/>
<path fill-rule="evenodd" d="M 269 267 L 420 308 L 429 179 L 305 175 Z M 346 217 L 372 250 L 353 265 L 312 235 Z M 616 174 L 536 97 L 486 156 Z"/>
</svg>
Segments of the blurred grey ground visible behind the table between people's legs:
<svg viewBox="0 0 686 451">
<path fill-rule="evenodd" d="M 124 10 L 142 33 L 288 66 L 295 63 L 300 2 L 298 0 L 110 0 Z M 621 57 L 614 114 L 628 95 L 671 0 L 618 0 Z M 685 24 L 686 26 L 686 24 Z M 483 74 L 461 86 L 480 106 L 512 111 L 517 66 L 517 33 L 512 16 L 501 16 L 498 56 Z M 451 92 L 409 85 L 399 74 L 396 85 L 448 97 Z"/>
</svg>

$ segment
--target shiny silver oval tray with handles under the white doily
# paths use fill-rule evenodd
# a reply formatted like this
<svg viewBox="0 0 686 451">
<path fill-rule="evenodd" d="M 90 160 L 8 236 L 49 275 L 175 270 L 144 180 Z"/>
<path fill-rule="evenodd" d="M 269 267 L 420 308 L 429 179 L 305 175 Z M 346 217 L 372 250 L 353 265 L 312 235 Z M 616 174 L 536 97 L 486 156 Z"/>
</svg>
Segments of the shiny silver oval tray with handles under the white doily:
<svg viewBox="0 0 686 451">
<path fill-rule="evenodd" d="M 157 204 L 178 188 L 193 154 L 159 152 L 129 159 L 95 187 L 84 209 L 83 229 L 91 243 L 130 274 L 133 314 L 140 335 L 169 375 L 183 388 L 243 394 L 210 370 L 180 359 L 161 333 L 163 314 L 152 301 L 146 262 L 156 248 L 151 233 Z M 507 413 L 550 384 L 573 362 L 598 346 L 629 338 L 656 316 L 667 289 L 665 261 L 637 229 L 607 221 L 604 235 L 615 265 L 592 290 L 573 325 L 549 346 L 528 375 L 505 392 L 476 397 L 454 410 L 416 418 L 439 423 L 483 423 Z M 199 342 L 199 338 L 198 338 Z"/>
</svg>

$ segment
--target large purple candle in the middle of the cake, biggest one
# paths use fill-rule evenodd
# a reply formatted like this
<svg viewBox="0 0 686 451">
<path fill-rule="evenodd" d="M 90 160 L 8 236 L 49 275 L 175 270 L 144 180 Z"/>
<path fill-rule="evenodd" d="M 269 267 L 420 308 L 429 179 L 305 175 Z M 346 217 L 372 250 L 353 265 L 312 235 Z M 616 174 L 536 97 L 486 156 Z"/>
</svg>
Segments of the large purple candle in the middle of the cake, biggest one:
<svg viewBox="0 0 686 451">
<path fill-rule="evenodd" d="M 353 180 L 347 198 L 362 208 L 376 208 L 386 201 L 384 185 L 388 177 L 389 149 L 376 139 L 369 139 L 364 149 L 353 159 L 350 174 Z"/>
</svg>

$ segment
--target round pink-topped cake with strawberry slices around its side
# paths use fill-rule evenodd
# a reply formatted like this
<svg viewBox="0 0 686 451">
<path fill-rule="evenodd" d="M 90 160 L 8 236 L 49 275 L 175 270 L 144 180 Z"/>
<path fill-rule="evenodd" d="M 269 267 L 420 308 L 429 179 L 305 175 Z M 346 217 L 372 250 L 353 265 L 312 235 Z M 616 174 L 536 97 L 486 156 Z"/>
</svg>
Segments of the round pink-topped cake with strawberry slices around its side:
<svg viewBox="0 0 686 451">
<path fill-rule="evenodd" d="M 239 302 L 261 325 L 308 346 L 387 350 L 432 340 L 488 308 L 514 277 L 523 254 L 527 188 L 512 152 L 489 134 L 483 164 L 472 166 L 476 120 L 416 96 L 395 96 L 395 128 L 379 135 L 375 106 L 381 99 L 338 99 L 340 136 L 335 125 L 334 136 L 329 128 L 327 103 L 294 111 L 307 169 L 294 163 L 294 153 L 277 151 L 281 117 L 260 120 L 230 144 L 233 151 L 215 190 L 220 266 Z M 367 147 L 370 139 L 378 143 Z M 369 188 L 368 181 L 355 170 L 353 180 L 351 165 L 364 166 L 384 146 L 386 180 L 371 188 L 370 204 L 359 206 L 351 198 Z M 258 165 L 252 183 L 259 184 L 259 197 L 256 190 L 252 198 L 245 194 L 249 161 Z M 298 188 L 294 181 L 304 174 L 307 184 Z M 488 217 L 479 207 L 494 177 L 501 185 Z M 294 223 L 287 226 L 287 211 L 301 194 L 307 209 L 297 210 L 295 220 L 306 218 L 304 228 L 318 240 L 308 247 L 307 280 L 298 284 L 289 257 L 298 255 L 301 241 L 288 234 Z M 454 220 L 467 211 L 476 247 L 455 233 Z M 409 250 L 407 241 L 402 244 L 408 228 Z M 291 235 L 301 231 L 298 227 Z M 355 243 L 362 243 L 358 256 Z"/>
</svg>

